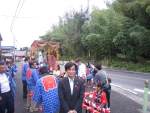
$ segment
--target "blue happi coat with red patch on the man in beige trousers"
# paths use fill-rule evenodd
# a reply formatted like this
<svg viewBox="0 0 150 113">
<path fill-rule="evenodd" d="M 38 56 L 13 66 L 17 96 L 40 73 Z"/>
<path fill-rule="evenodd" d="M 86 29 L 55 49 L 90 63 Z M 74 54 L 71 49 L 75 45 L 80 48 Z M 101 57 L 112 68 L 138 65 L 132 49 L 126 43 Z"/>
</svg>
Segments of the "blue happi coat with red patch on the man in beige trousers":
<svg viewBox="0 0 150 113">
<path fill-rule="evenodd" d="M 39 79 L 39 75 L 36 69 L 28 68 L 26 71 L 26 82 L 27 82 L 28 90 L 34 91 L 38 79 Z"/>
</svg>

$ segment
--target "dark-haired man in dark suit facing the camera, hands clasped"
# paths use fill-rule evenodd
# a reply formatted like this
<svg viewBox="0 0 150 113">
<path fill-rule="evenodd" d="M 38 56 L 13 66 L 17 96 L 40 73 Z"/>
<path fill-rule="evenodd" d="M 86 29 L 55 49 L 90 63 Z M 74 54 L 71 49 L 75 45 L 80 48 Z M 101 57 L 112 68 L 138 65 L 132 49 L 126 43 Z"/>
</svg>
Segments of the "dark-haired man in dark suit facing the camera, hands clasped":
<svg viewBox="0 0 150 113">
<path fill-rule="evenodd" d="M 61 79 L 58 84 L 59 113 L 82 113 L 84 82 L 75 78 L 76 68 L 73 62 L 65 65 L 67 77 Z"/>
</svg>

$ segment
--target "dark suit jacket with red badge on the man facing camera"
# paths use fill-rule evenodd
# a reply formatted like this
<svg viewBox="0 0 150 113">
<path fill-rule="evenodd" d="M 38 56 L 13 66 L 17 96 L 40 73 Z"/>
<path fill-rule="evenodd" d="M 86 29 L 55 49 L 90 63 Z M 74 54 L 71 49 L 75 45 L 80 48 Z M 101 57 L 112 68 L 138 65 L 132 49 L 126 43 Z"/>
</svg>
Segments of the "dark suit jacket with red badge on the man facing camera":
<svg viewBox="0 0 150 113">
<path fill-rule="evenodd" d="M 58 94 L 60 100 L 59 113 L 68 113 L 70 110 L 82 113 L 84 82 L 81 79 L 74 79 L 73 95 L 71 95 L 68 77 L 61 79 L 58 84 Z"/>
</svg>

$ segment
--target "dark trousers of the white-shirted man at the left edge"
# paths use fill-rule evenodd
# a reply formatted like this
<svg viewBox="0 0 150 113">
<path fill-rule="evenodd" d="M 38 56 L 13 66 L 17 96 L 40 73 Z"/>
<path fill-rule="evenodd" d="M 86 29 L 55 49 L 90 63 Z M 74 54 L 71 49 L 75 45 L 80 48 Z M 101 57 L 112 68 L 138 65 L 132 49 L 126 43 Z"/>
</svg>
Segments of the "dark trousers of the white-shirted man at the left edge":
<svg viewBox="0 0 150 113">
<path fill-rule="evenodd" d="M 2 93 L 1 97 L 0 113 L 5 113 L 5 109 L 7 110 L 7 113 L 14 113 L 14 97 L 11 92 Z"/>
</svg>

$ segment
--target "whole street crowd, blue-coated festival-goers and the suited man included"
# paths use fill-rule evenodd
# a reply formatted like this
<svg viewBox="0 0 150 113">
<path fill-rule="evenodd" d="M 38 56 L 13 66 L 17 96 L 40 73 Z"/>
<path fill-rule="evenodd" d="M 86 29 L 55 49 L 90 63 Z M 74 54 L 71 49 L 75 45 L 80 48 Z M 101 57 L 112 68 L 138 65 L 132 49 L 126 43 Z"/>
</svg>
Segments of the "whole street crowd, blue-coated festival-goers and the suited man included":
<svg viewBox="0 0 150 113">
<path fill-rule="evenodd" d="M 22 65 L 23 98 L 29 112 L 82 113 L 85 106 L 100 113 L 110 112 L 111 79 L 101 65 L 82 63 L 80 58 L 64 65 L 65 72 L 56 64 L 54 70 L 26 57 Z M 14 82 L 17 66 L 14 62 L 0 62 L 0 113 L 14 113 Z M 85 88 L 95 88 L 85 92 Z M 88 101 L 86 97 L 92 98 Z M 37 105 L 39 107 L 37 107 Z M 88 110 L 88 109 L 87 109 Z M 91 111 L 92 112 L 92 111 Z"/>
</svg>

